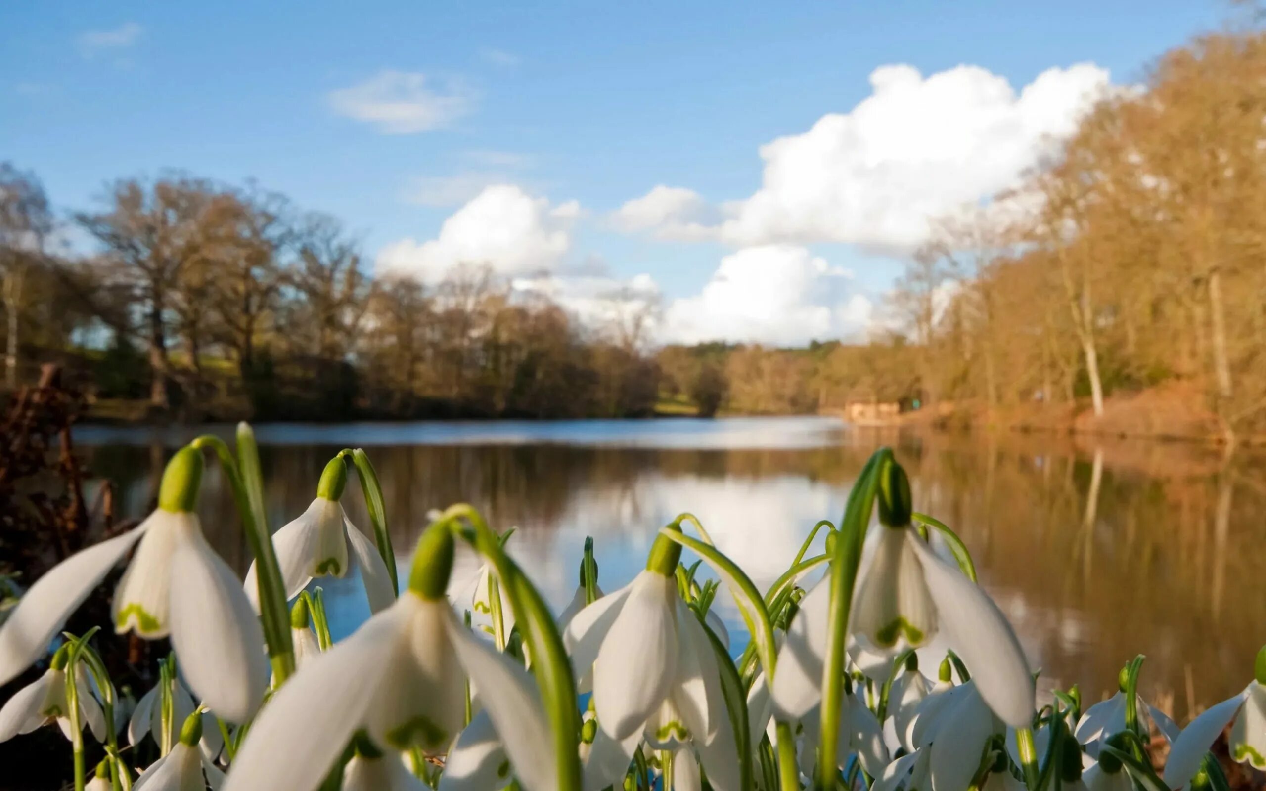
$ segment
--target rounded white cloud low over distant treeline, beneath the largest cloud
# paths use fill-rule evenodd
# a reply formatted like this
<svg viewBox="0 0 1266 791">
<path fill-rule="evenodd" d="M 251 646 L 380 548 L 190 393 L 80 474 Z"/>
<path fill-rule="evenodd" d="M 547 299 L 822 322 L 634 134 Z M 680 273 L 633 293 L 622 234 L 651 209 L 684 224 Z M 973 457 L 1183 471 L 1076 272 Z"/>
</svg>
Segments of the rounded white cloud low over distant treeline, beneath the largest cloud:
<svg viewBox="0 0 1266 791">
<path fill-rule="evenodd" d="M 871 302 L 852 292 L 852 275 L 803 247 L 767 244 L 722 258 L 696 296 L 676 299 L 663 339 L 798 346 L 865 329 Z"/>
</svg>

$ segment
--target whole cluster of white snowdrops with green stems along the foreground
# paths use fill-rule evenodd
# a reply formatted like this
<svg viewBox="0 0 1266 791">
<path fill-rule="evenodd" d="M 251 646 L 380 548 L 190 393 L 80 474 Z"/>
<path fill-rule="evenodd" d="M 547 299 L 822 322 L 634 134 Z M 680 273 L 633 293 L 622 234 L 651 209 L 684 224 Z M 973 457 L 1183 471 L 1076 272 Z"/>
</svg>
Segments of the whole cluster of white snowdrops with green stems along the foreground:
<svg viewBox="0 0 1266 791">
<path fill-rule="evenodd" d="M 586 542 L 576 595 L 556 616 L 506 554 L 509 532 L 465 505 L 433 514 L 398 580 L 361 451 L 332 459 L 311 506 L 270 535 L 249 427 L 235 444 L 205 435 L 179 451 L 153 514 L 56 566 L 0 625 L 0 685 L 47 667 L 4 701 L 0 740 L 60 726 L 76 790 L 1219 788 L 1209 748 L 1227 725 L 1232 758 L 1266 764 L 1266 649 L 1243 692 L 1182 730 L 1138 696 L 1141 657 L 1105 701 L 1082 707 L 1074 687 L 1038 705 L 970 553 L 912 510 L 887 449 L 841 523 L 819 523 L 768 590 L 684 514 L 619 590 L 599 586 Z M 206 452 L 254 556 L 244 581 L 195 514 Z M 372 539 L 339 505 L 352 473 Z M 806 557 L 819 530 L 825 552 Z M 482 566 L 452 595 L 461 543 Z M 172 647 L 132 705 L 94 648 L 106 635 L 62 632 L 129 553 L 114 630 Z M 373 615 L 333 643 L 311 582 L 352 570 Z M 722 587 L 744 647 L 711 610 Z M 933 635 L 951 651 L 920 667 L 914 648 Z M 89 734 L 103 745 L 95 766 Z M 1171 742 L 1161 773 L 1156 738 Z"/>
</svg>

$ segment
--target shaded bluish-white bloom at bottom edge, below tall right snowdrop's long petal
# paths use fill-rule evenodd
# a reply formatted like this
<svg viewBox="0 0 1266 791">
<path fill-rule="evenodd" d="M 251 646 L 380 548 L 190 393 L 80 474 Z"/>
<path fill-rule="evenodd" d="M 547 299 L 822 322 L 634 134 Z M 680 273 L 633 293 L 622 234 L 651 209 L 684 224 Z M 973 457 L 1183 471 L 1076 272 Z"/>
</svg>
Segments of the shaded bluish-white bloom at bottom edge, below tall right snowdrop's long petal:
<svg viewBox="0 0 1266 791">
<path fill-rule="evenodd" d="M 928 749 L 932 791 L 960 791 L 980 769 L 985 744 L 1006 728 L 985 704 L 976 680 L 924 701 L 915 726 L 918 747 Z"/>
</svg>

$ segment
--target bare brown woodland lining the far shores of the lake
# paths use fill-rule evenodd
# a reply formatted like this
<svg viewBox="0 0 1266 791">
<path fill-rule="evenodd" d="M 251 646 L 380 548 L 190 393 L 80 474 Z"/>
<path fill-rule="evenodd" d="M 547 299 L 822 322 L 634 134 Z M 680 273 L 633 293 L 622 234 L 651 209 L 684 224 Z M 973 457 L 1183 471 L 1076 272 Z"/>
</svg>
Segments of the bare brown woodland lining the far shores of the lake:
<svg viewBox="0 0 1266 791">
<path fill-rule="evenodd" d="M 375 278 L 337 219 L 254 185 L 123 178 L 67 214 L 35 173 L 4 165 L 0 381 L 61 362 L 99 416 L 114 405 L 133 419 L 784 414 L 876 400 L 947 421 L 1260 435 L 1263 123 L 1266 35 L 1174 49 L 1022 185 L 937 219 L 867 338 L 799 349 L 656 347 L 653 305 L 585 324 L 487 262 L 433 286 Z M 91 252 L 67 253 L 71 235 Z"/>
</svg>

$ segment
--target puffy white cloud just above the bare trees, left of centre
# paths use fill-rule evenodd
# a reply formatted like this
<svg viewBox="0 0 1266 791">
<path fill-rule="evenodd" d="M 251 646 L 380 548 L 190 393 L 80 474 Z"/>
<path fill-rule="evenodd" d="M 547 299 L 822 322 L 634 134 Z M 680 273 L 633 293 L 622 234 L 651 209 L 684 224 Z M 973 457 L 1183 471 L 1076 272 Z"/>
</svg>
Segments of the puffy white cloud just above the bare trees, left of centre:
<svg viewBox="0 0 1266 791">
<path fill-rule="evenodd" d="M 485 187 L 444 220 L 429 242 L 401 239 L 377 258 L 381 272 L 436 282 L 457 265 L 487 265 L 503 276 L 528 276 L 557 267 L 571 249 L 580 204 L 551 204 L 514 185 Z"/>
</svg>

